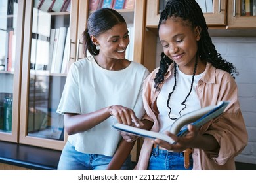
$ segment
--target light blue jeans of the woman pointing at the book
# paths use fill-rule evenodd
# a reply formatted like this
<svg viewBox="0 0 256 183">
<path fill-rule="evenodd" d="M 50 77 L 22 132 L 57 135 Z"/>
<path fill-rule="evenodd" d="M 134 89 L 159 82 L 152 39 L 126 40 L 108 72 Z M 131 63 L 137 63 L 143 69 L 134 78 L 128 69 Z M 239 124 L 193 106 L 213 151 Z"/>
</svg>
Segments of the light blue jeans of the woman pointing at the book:
<svg viewBox="0 0 256 183">
<path fill-rule="evenodd" d="M 58 170 L 105 170 L 111 160 L 111 156 L 78 152 L 67 142 L 58 162 Z M 121 169 L 132 169 L 131 156 L 126 159 Z"/>
</svg>

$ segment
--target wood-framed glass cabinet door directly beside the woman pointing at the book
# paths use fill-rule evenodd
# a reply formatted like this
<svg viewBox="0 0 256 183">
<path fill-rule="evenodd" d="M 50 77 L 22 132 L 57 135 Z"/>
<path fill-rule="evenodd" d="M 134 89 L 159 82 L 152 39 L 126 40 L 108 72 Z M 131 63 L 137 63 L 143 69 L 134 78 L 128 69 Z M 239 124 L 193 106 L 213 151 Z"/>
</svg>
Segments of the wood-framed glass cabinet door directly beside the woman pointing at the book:
<svg viewBox="0 0 256 183">
<path fill-rule="evenodd" d="M 56 110 L 70 61 L 70 8 L 71 1 L 26 1 L 20 143 L 62 150 L 66 142 Z"/>
</svg>

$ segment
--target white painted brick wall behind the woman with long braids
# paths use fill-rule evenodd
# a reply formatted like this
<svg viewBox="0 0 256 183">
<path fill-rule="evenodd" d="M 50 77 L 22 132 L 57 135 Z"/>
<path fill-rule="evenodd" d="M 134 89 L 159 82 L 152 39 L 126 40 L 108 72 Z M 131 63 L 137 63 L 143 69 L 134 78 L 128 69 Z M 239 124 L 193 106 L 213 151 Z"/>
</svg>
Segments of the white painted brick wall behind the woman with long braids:
<svg viewBox="0 0 256 183">
<path fill-rule="evenodd" d="M 242 114 L 249 134 L 249 141 L 236 161 L 256 164 L 256 38 L 212 37 L 217 52 L 232 62 L 239 72 L 236 76 Z M 162 47 L 158 41 L 156 67 Z"/>
</svg>

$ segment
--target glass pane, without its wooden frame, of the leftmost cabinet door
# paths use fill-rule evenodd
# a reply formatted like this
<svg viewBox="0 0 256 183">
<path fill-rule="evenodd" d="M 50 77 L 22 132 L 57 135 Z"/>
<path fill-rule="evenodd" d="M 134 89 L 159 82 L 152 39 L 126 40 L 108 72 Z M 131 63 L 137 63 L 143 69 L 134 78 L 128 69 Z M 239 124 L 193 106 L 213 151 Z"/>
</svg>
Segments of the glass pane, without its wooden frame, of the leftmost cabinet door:
<svg viewBox="0 0 256 183">
<path fill-rule="evenodd" d="M 0 132 L 12 132 L 18 0 L 0 1 Z"/>
</svg>

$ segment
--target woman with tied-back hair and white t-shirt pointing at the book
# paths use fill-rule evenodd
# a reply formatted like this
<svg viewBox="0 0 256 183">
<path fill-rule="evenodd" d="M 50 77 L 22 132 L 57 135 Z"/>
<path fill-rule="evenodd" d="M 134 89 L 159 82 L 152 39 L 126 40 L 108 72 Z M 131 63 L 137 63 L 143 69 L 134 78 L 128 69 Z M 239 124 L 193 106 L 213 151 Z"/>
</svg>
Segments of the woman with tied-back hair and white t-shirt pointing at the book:
<svg viewBox="0 0 256 183">
<path fill-rule="evenodd" d="M 112 125 L 142 125 L 142 88 L 149 71 L 125 59 L 129 31 L 116 10 L 101 8 L 89 16 L 83 44 L 86 57 L 70 66 L 57 109 L 69 135 L 58 169 L 133 169 L 135 141 L 123 141 Z M 118 150 L 123 147 L 125 153 Z"/>
</svg>

